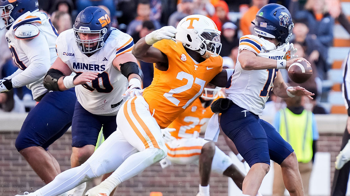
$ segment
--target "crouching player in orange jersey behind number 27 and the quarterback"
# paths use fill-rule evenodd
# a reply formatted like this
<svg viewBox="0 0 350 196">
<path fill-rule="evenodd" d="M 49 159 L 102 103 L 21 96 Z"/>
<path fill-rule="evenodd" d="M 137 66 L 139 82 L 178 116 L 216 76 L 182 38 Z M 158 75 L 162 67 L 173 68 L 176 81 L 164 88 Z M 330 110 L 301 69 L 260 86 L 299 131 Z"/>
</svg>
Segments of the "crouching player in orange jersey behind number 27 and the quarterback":
<svg viewBox="0 0 350 196">
<path fill-rule="evenodd" d="M 245 175 L 232 164 L 230 157 L 215 146 L 214 142 L 198 137 L 202 126 L 214 114 L 209 106 L 214 100 L 224 97 L 220 87 L 208 84 L 201 97 L 182 112 L 168 128 L 162 129 L 168 155 L 167 160 L 161 161 L 161 164 L 168 161 L 180 165 L 198 164 L 201 184 L 197 196 L 209 195 L 211 170 L 231 177 L 242 189 Z"/>
</svg>

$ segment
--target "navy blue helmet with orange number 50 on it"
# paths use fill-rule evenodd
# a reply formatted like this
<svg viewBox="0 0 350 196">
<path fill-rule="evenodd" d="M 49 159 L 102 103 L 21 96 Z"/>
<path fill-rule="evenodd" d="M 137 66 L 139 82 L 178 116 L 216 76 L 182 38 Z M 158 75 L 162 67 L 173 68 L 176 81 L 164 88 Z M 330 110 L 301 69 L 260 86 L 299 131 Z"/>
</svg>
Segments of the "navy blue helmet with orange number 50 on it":
<svg viewBox="0 0 350 196">
<path fill-rule="evenodd" d="M 81 11 L 75 20 L 73 30 L 75 32 L 75 40 L 78 43 L 80 50 L 85 53 L 94 53 L 101 49 L 105 44 L 111 31 L 111 18 L 102 8 L 90 6 Z M 83 40 L 80 39 L 80 34 L 99 34 L 96 39 Z M 96 43 L 96 46 L 91 44 Z M 85 47 L 84 44 L 89 44 Z"/>
</svg>

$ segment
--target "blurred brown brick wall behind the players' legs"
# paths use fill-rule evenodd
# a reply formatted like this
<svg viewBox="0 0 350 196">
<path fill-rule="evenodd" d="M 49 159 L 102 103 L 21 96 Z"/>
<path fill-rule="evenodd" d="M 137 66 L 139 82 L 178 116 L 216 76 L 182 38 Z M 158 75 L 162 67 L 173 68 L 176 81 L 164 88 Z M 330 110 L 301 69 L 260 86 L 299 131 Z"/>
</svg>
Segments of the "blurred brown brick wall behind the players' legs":
<svg viewBox="0 0 350 196">
<path fill-rule="evenodd" d="M 14 147 L 16 136 L 17 132 L 0 133 L 0 196 L 23 194 L 23 191 L 31 192 L 44 185 L 26 160 L 16 151 Z M 323 133 L 318 142 L 319 151 L 331 153 L 331 178 L 333 178 L 334 161 L 340 149 L 341 137 L 339 133 Z M 70 133 L 66 133 L 49 148 L 61 165 L 62 171 L 70 168 L 70 143 Z M 222 136 L 219 137 L 217 145 L 225 153 L 229 152 Z M 148 196 L 150 191 L 161 191 L 164 196 L 194 196 L 197 194 L 198 184 L 198 168 L 195 165 L 172 165 L 162 170 L 160 165 L 156 164 L 138 176 L 123 182 L 115 195 Z M 88 186 L 93 186 L 93 182 Z M 210 189 L 212 196 L 226 196 L 227 178 L 212 174 Z"/>
</svg>

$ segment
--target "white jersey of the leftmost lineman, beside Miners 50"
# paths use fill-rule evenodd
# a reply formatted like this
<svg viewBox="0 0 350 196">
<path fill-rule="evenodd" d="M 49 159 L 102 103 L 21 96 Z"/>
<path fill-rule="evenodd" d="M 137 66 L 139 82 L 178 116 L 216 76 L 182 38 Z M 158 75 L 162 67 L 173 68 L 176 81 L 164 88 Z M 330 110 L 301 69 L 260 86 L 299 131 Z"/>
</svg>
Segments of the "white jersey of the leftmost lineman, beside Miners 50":
<svg viewBox="0 0 350 196">
<path fill-rule="evenodd" d="M 34 24 L 39 29 L 39 35 L 37 36 L 37 38 L 16 38 L 16 28 L 18 28 L 22 24 L 28 23 Z M 17 79 L 20 81 L 17 81 L 15 79 L 12 80 L 14 88 L 27 85 L 27 87 L 31 90 L 34 99 L 48 91 L 43 85 L 43 79 L 45 73 L 49 70 L 50 66 L 52 65 L 52 63 L 54 63 L 54 61 L 57 58 L 55 51 L 55 42 L 57 36 L 58 33 L 54 26 L 52 26 L 50 18 L 47 14 L 43 12 L 38 12 L 37 10 L 33 12 L 27 12 L 14 21 L 10 29 L 6 32 L 6 39 L 8 47 L 12 53 L 12 58 L 15 61 L 15 64 L 20 68 L 20 70 L 16 71 L 15 74 L 13 74 L 11 77 L 8 77 L 7 79 L 16 77 L 16 75 L 21 74 L 23 72 L 23 76 L 20 79 Z M 37 50 L 37 48 L 45 48 L 47 50 L 46 43 L 45 47 L 43 46 L 43 39 L 46 39 L 49 48 L 49 51 L 45 53 L 41 53 L 40 50 Z M 35 44 L 30 42 L 37 43 Z M 34 70 L 34 66 L 40 69 L 40 74 L 37 74 L 38 71 Z M 27 68 L 28 70 L 25 71 Z M 31 83 L 29 84 L 28 81 L 30 81 Z"/>
</svg>

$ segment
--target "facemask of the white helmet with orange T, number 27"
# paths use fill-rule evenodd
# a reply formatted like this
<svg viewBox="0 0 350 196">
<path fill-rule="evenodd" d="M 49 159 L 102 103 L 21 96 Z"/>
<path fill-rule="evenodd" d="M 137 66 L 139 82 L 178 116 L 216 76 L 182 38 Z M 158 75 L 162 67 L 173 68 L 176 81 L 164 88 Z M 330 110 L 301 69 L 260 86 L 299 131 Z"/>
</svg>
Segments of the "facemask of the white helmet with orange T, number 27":
<svg viewBox="0 0 350 196">
<path fill-rule="evenodd" d="M 204 30 L 201 34 L 198 34 L 201 39 L 198 52 L 203 58 L 209 58 L 210 56 L 219 56 L 221 51 L 220 43 L 220 31 Z"/>
</svg>

